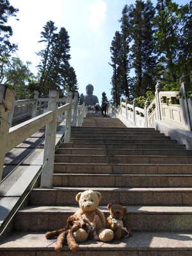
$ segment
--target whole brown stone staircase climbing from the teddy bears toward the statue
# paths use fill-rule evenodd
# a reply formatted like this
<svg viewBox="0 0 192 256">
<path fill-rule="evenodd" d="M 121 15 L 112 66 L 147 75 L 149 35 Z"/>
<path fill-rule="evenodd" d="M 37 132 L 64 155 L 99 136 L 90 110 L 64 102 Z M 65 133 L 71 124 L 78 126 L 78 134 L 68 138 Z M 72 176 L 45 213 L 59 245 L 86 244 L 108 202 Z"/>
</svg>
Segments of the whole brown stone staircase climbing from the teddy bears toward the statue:
<svg viewBox="0 0 192 256">
<path fill-rule="evenodd" d="M 192 154 L 154 129 L 127 128 L 117 118 L 88 113 L 72 127 L 70 143 L 56 150 L 52 189 L 33 189 L 17 212 L 13 232 L 0 243 L 1 256 L 72 255 L 54 252 L 45 232 L 65 225 L 78 209 L 79 191 L 100 191 L 99 208 L 127 206 L 133 236 L 79 244 L 76 255 L 192 255 Z"/>
</svg>

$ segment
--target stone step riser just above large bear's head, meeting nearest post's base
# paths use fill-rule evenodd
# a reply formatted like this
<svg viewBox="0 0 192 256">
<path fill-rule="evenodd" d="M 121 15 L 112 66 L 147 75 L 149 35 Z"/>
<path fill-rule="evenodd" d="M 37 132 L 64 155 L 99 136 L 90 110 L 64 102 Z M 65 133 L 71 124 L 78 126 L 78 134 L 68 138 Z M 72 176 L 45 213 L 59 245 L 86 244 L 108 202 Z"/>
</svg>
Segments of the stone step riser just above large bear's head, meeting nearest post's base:
<svg viewBox="0 0 192 256">
<path fill-rule="evenodd" d="M 54 187 L 190 188 L 192 175 L 54 173 Z"/>
</svg>

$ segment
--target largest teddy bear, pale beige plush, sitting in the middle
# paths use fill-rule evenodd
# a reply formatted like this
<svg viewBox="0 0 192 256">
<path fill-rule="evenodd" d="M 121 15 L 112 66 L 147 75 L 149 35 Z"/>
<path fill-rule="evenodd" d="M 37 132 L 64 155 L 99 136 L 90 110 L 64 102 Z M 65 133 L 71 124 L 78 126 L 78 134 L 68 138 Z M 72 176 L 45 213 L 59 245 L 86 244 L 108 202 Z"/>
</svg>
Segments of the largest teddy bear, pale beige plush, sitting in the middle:
<svg viewBox="0 0 192 256">
<path fill-rule="evenodd" d="M 84 218 L 88 218 L 90 222 L 93 222 L 95 215 L 99 215 L 99 220 L 97 221 L 95 228 L 99 236 L 99 240 L 102 242 L 109 242 L 113 239 L 114 234 L 113 230 L 106 228 L 106 218 L 104 214 L 97 208 L 100 200 L 101 194 L 97 191 L 86 190 L 82 193 L 78 193 L 76 195 L 76 201 L 79 202 L 80 209 L 76 212 L 76 214 L 81 215 Z M 76 241 L 79 241 L 83 235 L 82 228 L 79 230 L 73 233 Z M 86 232 L 86 230 L 84 230 L 84 232 Z"/>
</svg>

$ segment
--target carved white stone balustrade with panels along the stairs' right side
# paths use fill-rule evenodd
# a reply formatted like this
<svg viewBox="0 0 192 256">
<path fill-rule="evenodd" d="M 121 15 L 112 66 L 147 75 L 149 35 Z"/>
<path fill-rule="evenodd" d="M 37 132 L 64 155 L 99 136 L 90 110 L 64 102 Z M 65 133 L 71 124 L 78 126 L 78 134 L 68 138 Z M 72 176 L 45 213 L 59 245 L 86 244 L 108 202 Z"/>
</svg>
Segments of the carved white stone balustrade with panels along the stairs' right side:
<svg viewBox="0 0 192 256">
<path fill-rule="evenodd" d="M 114 114 L 114 106 L 110 106 L 109 115 L 118 117 L 127 126 L 130 124 L 135 127 L 155 127 L 157 120 L 164 121 L 170 125 L 175 125 L 179 129 L 192 131 L 192 104 L 191 99 L 186 97 L 189 88 L 189 77 L 180 78 L 180 92 L 161 92 L 161 84 L 156 84 L 156 97 L 149 104 L 145 102 L 145 108 L 138 108 L 136 100 L 133 104 L 120 102 Z"/>
</svg>

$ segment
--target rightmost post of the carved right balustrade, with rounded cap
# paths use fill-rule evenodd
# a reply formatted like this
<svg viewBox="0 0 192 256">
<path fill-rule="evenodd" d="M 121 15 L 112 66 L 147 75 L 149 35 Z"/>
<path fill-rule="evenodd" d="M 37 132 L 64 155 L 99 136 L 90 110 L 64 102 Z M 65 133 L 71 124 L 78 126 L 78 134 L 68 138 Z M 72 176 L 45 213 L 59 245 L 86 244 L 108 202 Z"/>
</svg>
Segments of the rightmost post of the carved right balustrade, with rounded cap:
<svg viewBox="0 0 192 256">
<path fill-rule="evenodd" d="M 187 97 L 186 92 L 190 91 L 189 76 L 182 75 L 180 77 L 180 106 L 183 109 L 184 118 L 186 119 L 186 127 L 188 131 L 192 131 L 192 104 L 191 99 Z"/>
</svg>

